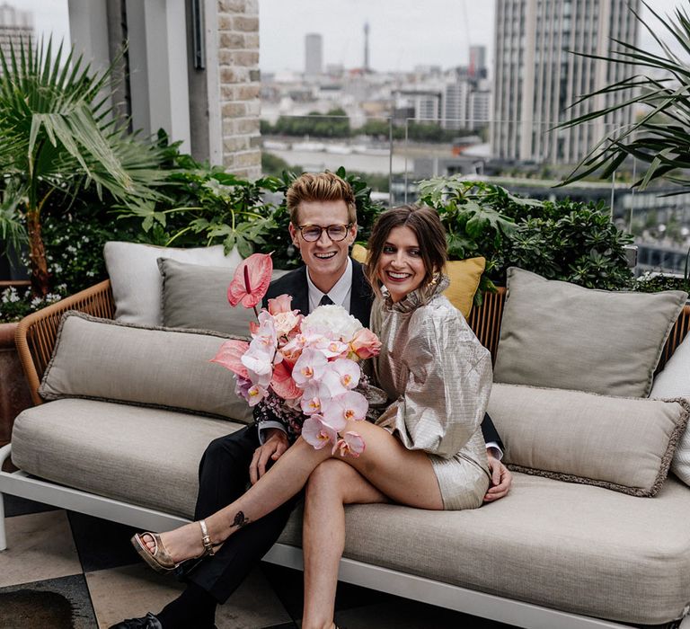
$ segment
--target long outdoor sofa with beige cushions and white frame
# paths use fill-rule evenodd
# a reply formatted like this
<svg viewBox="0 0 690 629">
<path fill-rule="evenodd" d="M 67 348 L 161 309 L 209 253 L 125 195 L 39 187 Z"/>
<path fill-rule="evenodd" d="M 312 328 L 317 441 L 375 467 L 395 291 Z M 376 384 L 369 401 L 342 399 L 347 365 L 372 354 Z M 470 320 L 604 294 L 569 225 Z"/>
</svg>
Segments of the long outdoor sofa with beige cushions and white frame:
<svg viewBox="0 0 690 629">
<path fill-rule="evenodd" d="M 686 347 L 686 296 L 670 293 L 660 298 L 659 308 L 659 297 L 648 305 L 645 296 L 640 307 L 649 312 L 647 319 L 633 312 L 639 295 L 632 306 L 623 304 L 637 321 L 637 341 L 649 328 L 661 330 L 658 347 L 639 348 L 624 338 L 625 347 L 617 348 L 612 336 L 626 323 L 610 322 L 606 348 L 581 376 L 594 378 L 590 389 L 609 378 L 623 395 L 564 390 L 519 382 L 535 376 L 520 375 L 519 368 L 510 375 L 511 353 L 534 362 L 528 346 L 536 339 L 536 362 L 548 362 L 550 352 L 564 351 L 547 338 L 554 327 L 549 309 L 561 308 L 563 318 L 573 312 L 583 318 L 591 305 L 579 304 L 580 294 L 583 301 L 596 297 L 595 309 L 598 294 L 608 295 L 563 288 L 562 282 L 543 285 L 525 273 L 513 274 L 508 300 L 505 289 L 488 294 L 468 319 L 492 357 L 498 354 L 496 373 L 503 374 L 489 411 L 506 443 L 505 460 L 515 470 L 509 496 L 467 511 L 349 506 L 341 580 L 517 626 L 688 627 L 683 618 L 690 603 L 690 489 L 676 474 L 666 477 L 674 449 L 684 447 L 688 406 L 682 399 L 646 397 L 657 362 L 659 372 L 679 345 Z M 544 306 L 554 287 L 565 293 Z M 571 288 L 584 292 L 571 297 Z M 534 295 L 540 301 L 532 304 L 532 319 L 516 327 L 513 308 L 511 330 L 500 332 L 511 302 L 519 310 L 520 300 L 529 306 Z M 208 312 L 199 300 L 194 306 Z M 63 318 L 68 311 L 73 314 Z M 0 463 L 12 455 L 20 468 L 0 474 L 0 492 L 164 530 L 191 517 L 199 457 L 208 442 L 251 417 L 233 398 L 230 373 L 208 363 L 228 332 L 109 323 L 115 313 L 106 280 L 20 324 L 16 340 L 36 406 L 20 414 L 12 443 L 0 451 Z M 557 333 L 568 336 L 570 329 Z M 525 330 L 536 334 L 532 341 L 524 338 Z M 627 350 L 632 354 L 617 358 Z M 606 352 L 614 352 L 609 363 L 620 360 L 617 369 L 599 369 Z M 640 358 L 645 352 L 648 358 Z M 638 365 L 644 382 L 629 391 L 625 387 L 634 378 L 618 374 L 636 360 L 644 363 Z M 556 355 L 546 377 L 558 383 L 569 369 L 582 371 L 577 362 Z M 587 429 L 580 432 L 578 422 Z M 570 442 L 563 445 L 562 439 Z M 682 475 L 677 460 L 673 465 Z M 297 509 L 266 561 L 301 567 L 300 522 Z M 12 545 L 3 525 L 0 548 Z"/>
</svg>

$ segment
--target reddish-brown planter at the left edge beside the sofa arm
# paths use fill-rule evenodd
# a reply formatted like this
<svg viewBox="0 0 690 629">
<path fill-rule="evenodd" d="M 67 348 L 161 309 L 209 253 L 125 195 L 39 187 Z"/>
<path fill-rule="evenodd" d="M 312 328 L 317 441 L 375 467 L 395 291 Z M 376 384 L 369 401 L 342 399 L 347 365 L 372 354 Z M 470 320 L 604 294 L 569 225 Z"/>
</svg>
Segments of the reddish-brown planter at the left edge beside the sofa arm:
<svg viewBox="0 0 690 629">
<path fill-rule="evenodd" d="M 29 386 L 14 345 L 16 329 L 17 323 L 0 323 L 0 447 L 10 442 L 14 418 L 32 406 Z"/>
</svg>

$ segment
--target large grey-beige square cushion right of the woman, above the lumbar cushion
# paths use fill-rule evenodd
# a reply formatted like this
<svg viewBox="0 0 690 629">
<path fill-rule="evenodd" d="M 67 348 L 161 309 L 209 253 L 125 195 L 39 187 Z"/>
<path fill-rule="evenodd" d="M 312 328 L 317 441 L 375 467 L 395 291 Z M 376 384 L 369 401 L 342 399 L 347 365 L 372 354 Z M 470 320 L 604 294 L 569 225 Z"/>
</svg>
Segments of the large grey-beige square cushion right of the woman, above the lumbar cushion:
<svg viewBox="0 0 690 629">
<path fill-rule="evenodd" d="M 495 382 L 646 397 L 687 293 L 582 288 L 508 270 Z"/>
</svg>

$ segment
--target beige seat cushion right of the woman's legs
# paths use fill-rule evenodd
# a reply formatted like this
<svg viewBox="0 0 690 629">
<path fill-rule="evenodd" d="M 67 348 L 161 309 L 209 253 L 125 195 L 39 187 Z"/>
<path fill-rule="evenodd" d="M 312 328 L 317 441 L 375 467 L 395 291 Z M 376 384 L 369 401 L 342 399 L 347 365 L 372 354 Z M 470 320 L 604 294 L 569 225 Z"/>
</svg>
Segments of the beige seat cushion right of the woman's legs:
<svg viewBox="0 0 690 629">
<path fill-rule="evenodd" d="M 346 507 L 345 556 L 575 614 L 658 625 L 682 616 L 690 600 L 688 522 L 690 489 L 675 478 L 641 500 L 515 474 L 509 495 L 481 509 Z M 301 545 L 299 513 L 279 541 Z"/>
</svg>

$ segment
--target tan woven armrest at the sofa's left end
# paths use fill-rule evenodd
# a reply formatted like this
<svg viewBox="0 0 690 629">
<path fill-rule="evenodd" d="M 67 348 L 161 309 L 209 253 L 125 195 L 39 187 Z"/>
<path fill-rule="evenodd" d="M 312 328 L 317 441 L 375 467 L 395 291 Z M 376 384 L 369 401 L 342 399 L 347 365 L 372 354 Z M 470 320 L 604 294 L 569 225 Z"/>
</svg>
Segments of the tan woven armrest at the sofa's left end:
<svg viewBox="0 0 690 629">
<path fill-rule="evenodd" d="M 115 302 L 112 298 L 111 280 L 105 279 L 100 284 L 65 297 L 29 314 L 19 322 L 14 341 L 31 390 L 31 399 L 35 404 L 42 403 L 39 396 L 40 378 L 43 377 L 55 348 L 60 318 L 67 310 L 78 310 L 104 319 L 114 318 Z"/>
</svg>

